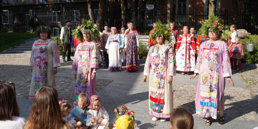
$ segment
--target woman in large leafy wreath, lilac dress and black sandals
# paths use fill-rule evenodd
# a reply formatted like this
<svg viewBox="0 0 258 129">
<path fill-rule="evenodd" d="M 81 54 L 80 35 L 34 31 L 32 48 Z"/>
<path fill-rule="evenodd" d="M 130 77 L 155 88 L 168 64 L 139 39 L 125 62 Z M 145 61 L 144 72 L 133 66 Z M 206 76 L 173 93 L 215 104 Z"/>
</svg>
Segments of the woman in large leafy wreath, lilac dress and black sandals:
<svg viewBox="0 0 258 129">
<path fill-rule="evenodd" d="M 199 34 L 208 35 L 210 39 L 200 45 L 195 65 L 194 79 L 199 74 L 199 82 L 195 96 L 195 111 L 206 117 L 205 124 L 210 126 L 210 117 L 224 124 L 224 90 L 225 78 L 234 86 L 231 79 L 229 51 L 224 40 L 231 32 L 224 27 L 224 21 L 215 15 L 202 22 Z"/>
</svg>

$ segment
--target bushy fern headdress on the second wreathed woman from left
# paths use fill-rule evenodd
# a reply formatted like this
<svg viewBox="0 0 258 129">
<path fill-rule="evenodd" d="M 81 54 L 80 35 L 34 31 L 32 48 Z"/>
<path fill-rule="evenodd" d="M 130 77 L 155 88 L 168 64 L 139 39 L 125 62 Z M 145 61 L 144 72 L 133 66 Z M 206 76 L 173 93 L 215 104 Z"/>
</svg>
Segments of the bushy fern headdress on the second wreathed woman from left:
<svg viewBox="0 0 258 129">
<path fill-rule="evenodd" d="M 90 21 L 83 18 L 82 24 L 79 25 L 80 29 L 74 29 L 72 30 L 72 35 L 75 35 L 75 37 L 83 41 L 83 32 L 88 31 L 90 33 L 90 37 L 92 40 L 97 41 L 99 39 L 100 33 L 99 30 L 96 28 L 96 25 Z"/>
</svg>

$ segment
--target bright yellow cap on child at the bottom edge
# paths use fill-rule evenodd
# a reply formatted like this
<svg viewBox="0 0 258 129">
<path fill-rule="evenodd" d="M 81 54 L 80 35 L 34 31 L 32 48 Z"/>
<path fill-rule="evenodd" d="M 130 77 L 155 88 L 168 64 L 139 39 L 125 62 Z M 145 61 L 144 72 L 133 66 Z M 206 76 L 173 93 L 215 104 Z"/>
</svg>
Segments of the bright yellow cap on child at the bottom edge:
<svg viewBox="0 0 258 129">
<path fill-rule="evenodd" d="M 117 129 L 134 129 L 134 122 L 132 118 L 127 116 L 121 116 L 116 120 Z"/>
</svg>

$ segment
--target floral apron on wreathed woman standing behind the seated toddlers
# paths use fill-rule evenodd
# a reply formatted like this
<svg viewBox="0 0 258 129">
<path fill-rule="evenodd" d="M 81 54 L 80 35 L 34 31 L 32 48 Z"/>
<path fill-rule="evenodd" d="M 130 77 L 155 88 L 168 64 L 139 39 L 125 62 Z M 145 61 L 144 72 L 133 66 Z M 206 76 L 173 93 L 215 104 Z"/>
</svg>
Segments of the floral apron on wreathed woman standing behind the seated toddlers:
<svg viewBox="0 0 258 129">
<path fill-rule="evenodd" d="M 78 67 L 76 74 L 76 86 L 74 93 L 74 105 L 78 105 L 78 96 L 80 93 L 89 95 L 89 79 L 90 78 L 90 56 L 89 48 L 81 50 L 81 46 L 78 46 Z"/>
</svg>

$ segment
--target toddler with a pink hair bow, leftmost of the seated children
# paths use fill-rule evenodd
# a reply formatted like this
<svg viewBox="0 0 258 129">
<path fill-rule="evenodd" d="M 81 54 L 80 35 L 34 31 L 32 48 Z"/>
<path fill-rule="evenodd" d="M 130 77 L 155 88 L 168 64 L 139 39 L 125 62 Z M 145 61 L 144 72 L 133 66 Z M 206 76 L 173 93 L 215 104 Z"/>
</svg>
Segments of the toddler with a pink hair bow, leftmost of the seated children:
<svg viewBox="0 0 258 129">
<path fill-rule="evenodd" d="M 68 124 L 72 124 L 73 127 L 77 127 L 76 121 L 71 117 L 70 112 L 72 110 L 72 105 L 68 101 L 59 101 L 59 105 L 62 112 L 63 120 Z"/>
</svg>

